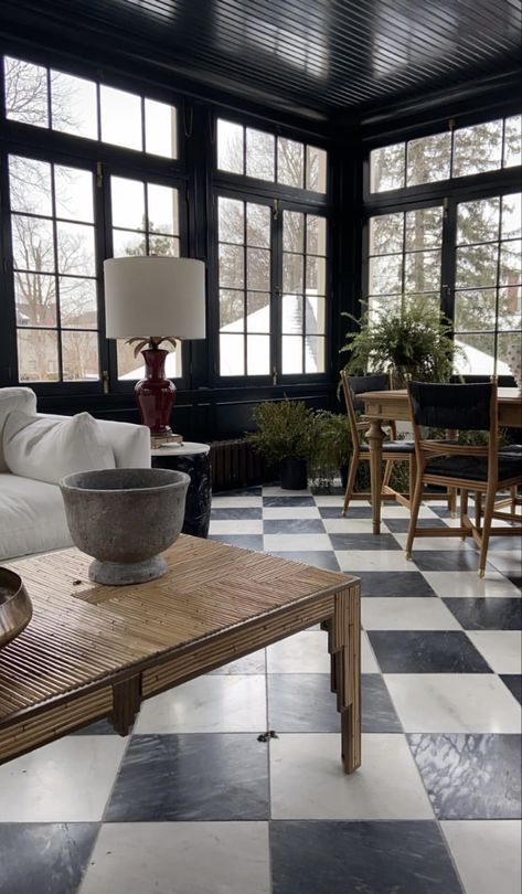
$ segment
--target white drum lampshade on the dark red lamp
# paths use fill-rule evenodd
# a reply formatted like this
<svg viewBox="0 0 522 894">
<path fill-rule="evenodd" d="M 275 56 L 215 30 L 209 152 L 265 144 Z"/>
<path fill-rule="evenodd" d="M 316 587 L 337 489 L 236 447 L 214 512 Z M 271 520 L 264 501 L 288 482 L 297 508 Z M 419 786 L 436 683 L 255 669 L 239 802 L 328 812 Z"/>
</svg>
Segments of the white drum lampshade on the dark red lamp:
<svg viewBox="0 0 522 894">
<path fill-rule="evenodd" d="M 108 339 L 205 338 L 205 265 L 185 257 L 113 257 L 104 263 Z"/>
</svg>

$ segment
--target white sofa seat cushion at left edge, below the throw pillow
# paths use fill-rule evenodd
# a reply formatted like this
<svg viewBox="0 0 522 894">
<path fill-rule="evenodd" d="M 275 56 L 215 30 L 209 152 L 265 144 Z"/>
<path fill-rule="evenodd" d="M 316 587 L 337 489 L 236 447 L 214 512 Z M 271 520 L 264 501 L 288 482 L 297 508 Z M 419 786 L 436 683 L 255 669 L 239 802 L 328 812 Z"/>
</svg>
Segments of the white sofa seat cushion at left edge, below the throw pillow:
<svg viewBox="0 0 522 894">
<path fill-rule="evenodd" d="M 71 545 L 57 485 L 0 473 L 0 561 Z"/>
</svg>

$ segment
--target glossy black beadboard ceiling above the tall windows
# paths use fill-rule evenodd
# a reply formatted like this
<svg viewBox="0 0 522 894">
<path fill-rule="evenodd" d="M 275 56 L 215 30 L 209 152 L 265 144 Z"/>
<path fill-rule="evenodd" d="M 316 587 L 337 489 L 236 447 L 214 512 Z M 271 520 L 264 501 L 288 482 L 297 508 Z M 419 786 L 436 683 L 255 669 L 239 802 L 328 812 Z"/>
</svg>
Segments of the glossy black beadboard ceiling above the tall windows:
<svg viewBox="0 0 522 894">
<path fill-rule="evenodd" d="M 519 0 L 3 0 L 1 11 L 10 36 L 107 62 L 116 50 L 200 94 L 312 118 L 520 65 Z"/>
</svg>

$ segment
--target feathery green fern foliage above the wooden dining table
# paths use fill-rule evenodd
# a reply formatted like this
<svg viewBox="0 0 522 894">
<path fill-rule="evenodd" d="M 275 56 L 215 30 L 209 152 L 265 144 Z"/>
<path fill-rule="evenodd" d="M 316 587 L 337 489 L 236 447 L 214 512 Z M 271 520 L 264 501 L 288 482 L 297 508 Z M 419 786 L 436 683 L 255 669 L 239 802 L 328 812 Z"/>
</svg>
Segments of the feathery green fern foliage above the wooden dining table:
<svg viewBox="0 0 522 894">
<path fill-rule="evenodd" d="M 458 351 L 450 339 L 448 320 L 440 319 L 438 311 L 419 300 L 403 298 L 400 311 L 370 319 L 367 307 L 358 320 L 351 313 L 342 313 L 358 323 L 358 332 L 347 332 L 347 343 L 341 351 L 349 351 L 349 373 L 366 371 L 394 372 L 396 387 L 405 383 L 406 374 L 424 382 L 447 382 L 452 373 L 454 354 Z"/>
</svg>

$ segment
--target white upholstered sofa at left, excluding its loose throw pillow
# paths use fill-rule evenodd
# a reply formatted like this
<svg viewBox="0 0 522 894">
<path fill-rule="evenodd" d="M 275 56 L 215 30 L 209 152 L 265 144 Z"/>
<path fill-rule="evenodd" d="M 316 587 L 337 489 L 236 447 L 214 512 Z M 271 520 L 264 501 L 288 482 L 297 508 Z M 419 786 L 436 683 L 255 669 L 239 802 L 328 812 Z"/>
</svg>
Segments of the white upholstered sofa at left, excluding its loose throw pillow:
<svg viewBox="0 0 522 894">
<path fill-rule="evenodd" d="M 13 475 L 7 465 L 3 449 L 6 423 L 9 414 L 17 412 L 43 419 L 71 418 L 36 413 L 36 397 L 31 389 L 0 389 L 0 561 L 58 550 L 72 542 L 58 486 Z M 99 419 L 96 425 L 104 444 L 111 450 L 111 457 L 114 455 L 113 466 L 150 466 L 148 428 Z"/>
</svg>

